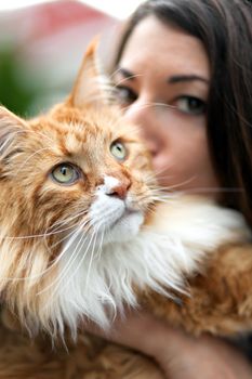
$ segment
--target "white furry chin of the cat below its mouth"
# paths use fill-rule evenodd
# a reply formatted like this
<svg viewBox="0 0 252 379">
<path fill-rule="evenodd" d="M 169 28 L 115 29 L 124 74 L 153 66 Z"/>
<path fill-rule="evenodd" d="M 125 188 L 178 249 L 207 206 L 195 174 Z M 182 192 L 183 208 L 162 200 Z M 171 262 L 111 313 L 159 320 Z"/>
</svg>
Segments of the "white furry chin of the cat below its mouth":
<svg viewBox="0 0 252 379">
<path fill-rule="evenodd" d="M 144 215 L 140 211 L 125 210 L 125 212 L 109 226 L 103 235 L 103 245 L 124 243 L 135 237 L 144 223 Z"/>
</svg>

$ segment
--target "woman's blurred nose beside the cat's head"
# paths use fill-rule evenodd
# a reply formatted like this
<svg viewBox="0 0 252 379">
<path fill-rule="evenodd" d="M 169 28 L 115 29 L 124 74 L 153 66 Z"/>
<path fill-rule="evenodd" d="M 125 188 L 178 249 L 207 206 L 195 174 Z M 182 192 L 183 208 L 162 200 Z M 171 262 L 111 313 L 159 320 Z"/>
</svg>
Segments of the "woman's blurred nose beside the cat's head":
<svg viewBox="0 0 252 379">
<path fill-rule="evenodd" d="M 124 117 L 140 127 L 141 136 L 144 139 L 147 148 L 152 155 L 156 155 L 159 149 L 159 133 L 155 107 L 146 102 L 136 101 L 128 107 Z"/>
</svg>

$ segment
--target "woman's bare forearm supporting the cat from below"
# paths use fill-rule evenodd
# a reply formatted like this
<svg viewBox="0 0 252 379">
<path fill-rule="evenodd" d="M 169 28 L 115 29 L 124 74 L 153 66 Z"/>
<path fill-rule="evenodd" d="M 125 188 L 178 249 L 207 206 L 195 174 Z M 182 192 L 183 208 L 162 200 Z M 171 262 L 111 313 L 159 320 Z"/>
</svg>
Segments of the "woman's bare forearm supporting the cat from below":
<svg viewBox="0 0 252 379">
<path fill-rule="evenodd" d="M 102 335 L 155 358 L 168 379 L 252 378 L 250 363 L 227 342 L 211 336 L 194 338 L 145 312 L 132 311 L 127 322 L 118 319 L 109 334 Z"/>
</svg>

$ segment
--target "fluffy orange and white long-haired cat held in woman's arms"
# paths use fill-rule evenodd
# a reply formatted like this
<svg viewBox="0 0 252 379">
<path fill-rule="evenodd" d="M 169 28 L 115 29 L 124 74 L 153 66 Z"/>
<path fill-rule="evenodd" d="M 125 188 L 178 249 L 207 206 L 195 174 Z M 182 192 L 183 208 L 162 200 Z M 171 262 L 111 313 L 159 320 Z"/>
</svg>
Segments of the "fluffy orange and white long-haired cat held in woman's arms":
<svg viewBox="0 0 252 379">
<path fill-rule="evenodd" d="M 96 44 L 45 115 L 0 107 L 0 378 L 161 378 L 83 330 L 109 328 L 125 305 L 193 334 L 252 325 L 243 218 L 162 195 L 137 128 L 110 104 Z"/>
</svg>

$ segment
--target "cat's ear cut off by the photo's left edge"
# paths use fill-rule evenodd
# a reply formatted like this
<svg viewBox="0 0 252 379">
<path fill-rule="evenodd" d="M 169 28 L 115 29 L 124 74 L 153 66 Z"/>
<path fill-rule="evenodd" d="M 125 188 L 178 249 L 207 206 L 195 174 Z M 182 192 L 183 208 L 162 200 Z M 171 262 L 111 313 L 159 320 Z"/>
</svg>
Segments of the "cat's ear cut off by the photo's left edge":
<svg viewBox="0 0 252 379">
<path fill-rule="evenodd" d="M 24 133 L 25 128 L 25 120 L 0 106 L 0 157 L 6 154 L 17 135 Z"/>
</svg>

